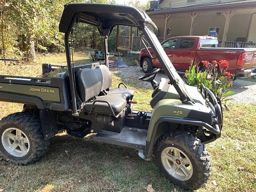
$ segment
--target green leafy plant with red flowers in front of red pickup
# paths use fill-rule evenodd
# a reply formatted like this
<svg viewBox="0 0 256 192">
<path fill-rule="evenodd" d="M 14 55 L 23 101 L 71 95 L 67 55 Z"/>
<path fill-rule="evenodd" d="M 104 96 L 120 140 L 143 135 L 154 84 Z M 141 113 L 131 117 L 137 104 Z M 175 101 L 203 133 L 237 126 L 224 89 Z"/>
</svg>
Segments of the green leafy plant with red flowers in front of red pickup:
<svg viewBox="0 0 256 192">
<path fill-rule="evenodd" d="M 228 68 L 227 60 L 220 60 L 220 70 L 218 70 L 218 62 L 216 60 L 206 61 L 203 60 L 202 64 L 206 68 L 204 72 L 199 71 L 198 66 L 191 65 L 186 70 L 185 77 L 188 79 L 188 85 L 196 86 L 198 89 L 201 84 L 212 90 L 215 96 L 217 96 L 221 103 L 226 107 L 229 95 L 235 91 L 228 90 L 233 85 L 234 75 L 230 72 L 226 72 Z M 220 74 L 218 74 L 220 73 Z"/>
</svg>

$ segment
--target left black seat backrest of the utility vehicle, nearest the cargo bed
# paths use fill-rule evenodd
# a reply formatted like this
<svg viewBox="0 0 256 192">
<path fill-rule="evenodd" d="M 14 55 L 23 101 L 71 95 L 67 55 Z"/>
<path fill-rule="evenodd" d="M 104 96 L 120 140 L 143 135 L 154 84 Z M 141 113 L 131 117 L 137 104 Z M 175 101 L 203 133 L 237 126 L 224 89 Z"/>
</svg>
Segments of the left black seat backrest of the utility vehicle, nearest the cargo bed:
<svg viewBox="0 0 256 192">
<path fill-rule="evenodd" d="M 101 70 L 98 68 L 84 68 L 76 72 L 77 92 L 80 99 L 85 102 L 98 96 L 102 88 Z"/>
</svg>

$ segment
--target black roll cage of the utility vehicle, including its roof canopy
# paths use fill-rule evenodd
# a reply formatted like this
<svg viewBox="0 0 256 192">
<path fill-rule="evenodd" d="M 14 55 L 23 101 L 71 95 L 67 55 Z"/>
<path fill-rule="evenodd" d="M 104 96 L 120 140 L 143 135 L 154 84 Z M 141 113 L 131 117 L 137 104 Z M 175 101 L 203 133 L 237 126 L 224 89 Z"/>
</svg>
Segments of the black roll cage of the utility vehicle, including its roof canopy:
<svg viewBox="0 0 256 192">
<path fill-rule="evenodd" d="M 116 25 L 126 25 L 138 27 L 151 45 L 157 59 L 169 78 L 169 83 L 173 84 L 183 103 L 192 102 L 192 98 L 185 89 L 184 82 L 177 74 L 172 62 L 164 52 L 155 36 L 157 31 L 156 24 L 148 15 L 137 8 L 112 5 L 112 4 L 67 4 L 61 16 L 59 31 L 65 33 L 65 49 L 68 64 L 68 76 L 72 96 L 72 114 L 79 115 L 76 106 L 77 95 L 75 92 L 74 72 L 72 69 L 69 35 L 75 22 L 82 22 L 94 25 L 98 28 L 100 36 L 105 37 L 105 58 L 108 66 L 108 36 Z"/>
</svg>

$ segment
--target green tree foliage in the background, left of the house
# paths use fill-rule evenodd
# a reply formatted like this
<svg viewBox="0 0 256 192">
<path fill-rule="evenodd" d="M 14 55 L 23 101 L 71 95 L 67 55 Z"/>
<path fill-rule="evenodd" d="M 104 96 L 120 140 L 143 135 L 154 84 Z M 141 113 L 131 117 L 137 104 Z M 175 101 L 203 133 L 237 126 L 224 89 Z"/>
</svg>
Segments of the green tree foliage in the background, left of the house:
<svg viewBox="0 0 256 192">
<path fill-rule="evenodd" d="M 63 52 L 64 34 L 58 31 L 60 17 L 64 4 L 68 3 L 104 3 L 116 4 L 115 0 L 2 0 L 0 3 L 0 22 L 3 30 L 0 35 L 4 37 L 1 43 L 0 54 L 5 50 L 6 57 L 33 57 L 36 47 L 38 52 Z M 145 10 L 147 4 L 139 0 L 130 1 L 128 5 Z M 0 23 L 0 24 L 1 24 Z M 75 31 L 75 30 L 74 30 Z M 129 32 L 127 28 L 120 31 Z M 135 28 L 132 29 L 134 33 Z M 109 36 L 109 51 L 116 47 L 116 28 Z M 96 27 L 83 25 L 77 26 L 74 32 L 75 49 L 103 49 L 103 37 L 100 37 Z M 33 59 L 33 58 L 32 58 Z"/>
</svg>

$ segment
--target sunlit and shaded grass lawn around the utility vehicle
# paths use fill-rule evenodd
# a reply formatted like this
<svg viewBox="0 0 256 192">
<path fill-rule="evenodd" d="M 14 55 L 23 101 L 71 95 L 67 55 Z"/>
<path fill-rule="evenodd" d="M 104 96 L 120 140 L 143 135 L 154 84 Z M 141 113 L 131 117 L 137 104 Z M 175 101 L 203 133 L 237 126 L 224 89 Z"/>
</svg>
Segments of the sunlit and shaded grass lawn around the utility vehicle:
<svg viewBox="0 0 256 192">
<path fill-rule="evenodd" d="M 84 60 L 76 55 L 76 60 Z M 1 74 L 40 76 L 41 63 L 64 64 L 64 55 L 40 56 L 30 64 L 0 63 Z M 113 74 L 113 86 L 120 77 Z M 135 90 L 134 107 L 149 106 L 152 89 L 125 82 Z M 22 110 L 22 104 L 0 102 L 0 118 Z M 210 152 L 212 177 L 198 192 L 256 191 L 256 105 L 229 104 L 224 112 L 222 137 L 206 147 Z M 148 184 L 156 192 L 184 192 L 160 175 L 154 160 L 141 160 L 130 148 L 100 144 L 65 133 L 52 138 L 50 150 L 35 164 L 16 166 L 0 160 L 0 189 L 4 192 L 144 192 Z"/>
</svg>

